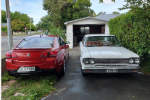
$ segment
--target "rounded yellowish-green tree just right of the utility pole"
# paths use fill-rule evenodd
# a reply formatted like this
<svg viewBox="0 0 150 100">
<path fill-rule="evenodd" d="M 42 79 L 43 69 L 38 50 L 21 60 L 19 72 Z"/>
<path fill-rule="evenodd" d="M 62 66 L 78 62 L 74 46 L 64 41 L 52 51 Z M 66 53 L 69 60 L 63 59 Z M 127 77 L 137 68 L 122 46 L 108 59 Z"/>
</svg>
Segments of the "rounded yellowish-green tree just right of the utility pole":
<svg viewBox="0 0 150 100">
<path fill-rule="evenodd" d="M 12 31 L 24 31 L 25 22 L 20 19 L 14 19 L 11 21 Z"/>
</svg>

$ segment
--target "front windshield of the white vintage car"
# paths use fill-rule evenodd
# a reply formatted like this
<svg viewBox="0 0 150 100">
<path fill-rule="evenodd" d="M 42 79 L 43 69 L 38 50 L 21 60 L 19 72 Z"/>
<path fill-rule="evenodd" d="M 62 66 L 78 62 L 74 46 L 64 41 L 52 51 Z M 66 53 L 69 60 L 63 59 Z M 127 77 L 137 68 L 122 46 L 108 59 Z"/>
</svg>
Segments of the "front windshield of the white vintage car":
<svg viewBox="0 0 150 100">
<path fill-rule="evenodd" d="M 90 36 L 86 38 L 85 45 L 86 47 L 121 46 L 115 36 Z"/>
</svg>

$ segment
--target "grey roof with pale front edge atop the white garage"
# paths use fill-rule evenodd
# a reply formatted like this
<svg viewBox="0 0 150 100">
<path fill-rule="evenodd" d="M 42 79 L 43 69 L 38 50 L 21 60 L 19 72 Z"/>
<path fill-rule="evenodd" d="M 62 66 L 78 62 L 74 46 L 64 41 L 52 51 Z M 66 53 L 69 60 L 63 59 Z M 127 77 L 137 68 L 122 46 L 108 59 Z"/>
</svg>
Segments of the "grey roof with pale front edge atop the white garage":
<svg viewBox="0 0 150 100">
<path fill-rule="evenodd" d="M 96 19 L 96 20 L 101 20 L 101 21 L 108 22 L 110 19 L 113 19 L 113 18 L 115 18 L 119 15 L 120 14 L 104 14 L 104 15 L 100 15 L 100 16 L 97 16 L 97 17 L 84 17 L 84 18 L 80 18 L 80 19 L 65 22 L 64 24 L 66 25 L 68 23 L 75 22 L 75 21 L 80 21 L 80 20 L 84 20 L 84 19 Z"/>
</svg>

